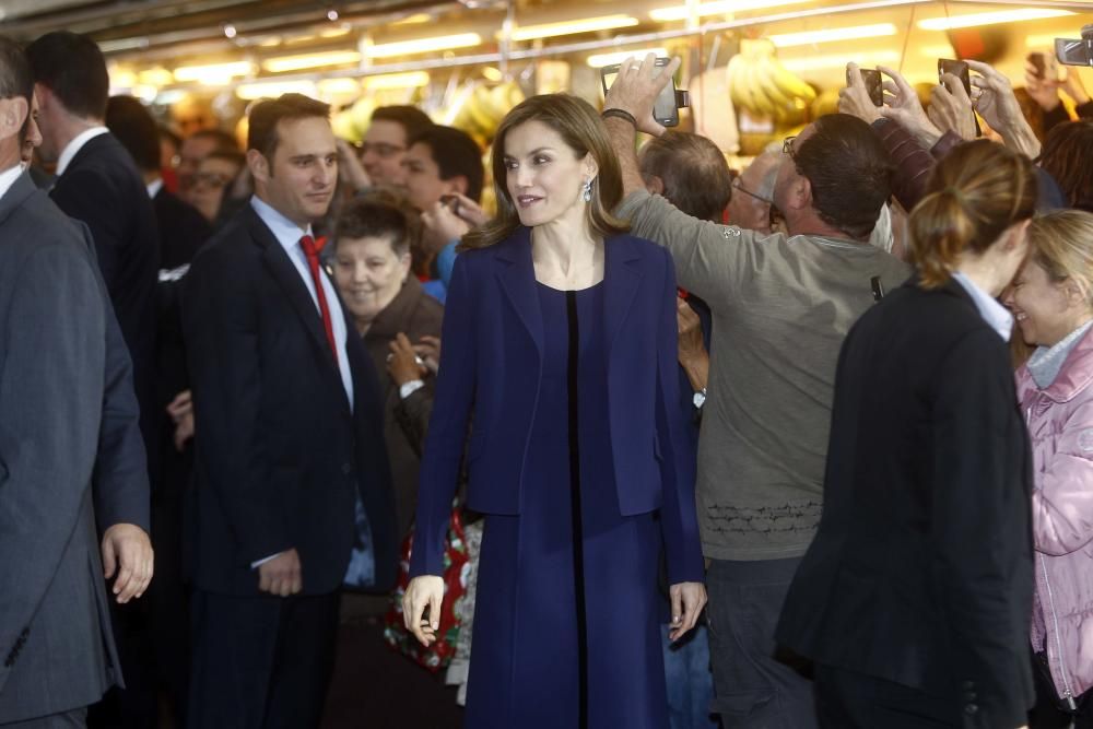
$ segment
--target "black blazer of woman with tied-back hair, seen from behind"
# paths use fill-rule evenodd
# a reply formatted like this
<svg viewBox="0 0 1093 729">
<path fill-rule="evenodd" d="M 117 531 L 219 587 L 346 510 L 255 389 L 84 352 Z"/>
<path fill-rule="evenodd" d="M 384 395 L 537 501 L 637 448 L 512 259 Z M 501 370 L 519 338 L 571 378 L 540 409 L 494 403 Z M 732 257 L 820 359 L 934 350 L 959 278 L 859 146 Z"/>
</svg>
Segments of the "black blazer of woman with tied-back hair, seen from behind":
<svg viewBox="0 0 1093 729">
<path fill-rule="evenodd" d="M 839 354 L 823 518 L 778 639 L 949 697 L 953 722 L 1024 725 L 1031 462 L 1009 349 L 964 289 L 892 292 Z"/>
</svg>

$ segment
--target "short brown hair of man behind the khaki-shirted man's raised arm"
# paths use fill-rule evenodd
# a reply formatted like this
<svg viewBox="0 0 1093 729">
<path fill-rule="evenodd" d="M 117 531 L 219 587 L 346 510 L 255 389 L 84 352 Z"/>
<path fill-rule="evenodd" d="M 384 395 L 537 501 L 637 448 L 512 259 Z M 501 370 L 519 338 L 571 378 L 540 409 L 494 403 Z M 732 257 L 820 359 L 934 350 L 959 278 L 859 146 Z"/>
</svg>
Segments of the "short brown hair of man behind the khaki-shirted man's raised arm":
<svg viewBox="0 0 1093 729">
<path fill-rule="evenodd" d="M 725 155 L 707 138 L 668 131 L 642 148 L 643 177 L 665 184 L 663 197 L 692 217 L 721 222 L 732 198 L 732 176 Z"/>
</svg>

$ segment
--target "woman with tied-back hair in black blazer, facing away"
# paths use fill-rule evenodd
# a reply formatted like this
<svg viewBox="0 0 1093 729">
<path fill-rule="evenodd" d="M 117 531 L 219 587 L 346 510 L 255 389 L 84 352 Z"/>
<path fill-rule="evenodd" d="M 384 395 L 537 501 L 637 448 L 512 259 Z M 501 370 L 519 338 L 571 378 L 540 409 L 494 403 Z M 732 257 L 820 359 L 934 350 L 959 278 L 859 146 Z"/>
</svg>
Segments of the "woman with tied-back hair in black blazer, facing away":
<svg viewBox="0 0 1093 729">
<path fill-rule="evenodd" d="M 910 214 L 917 273 L 843 345 L 824 513 L 778 631 L 815 662 L 823 727 L 1026 722 L 1031 456 L 996 297 L 1035 203 L 1029 160 L 956 148 Z"/>
</svg>

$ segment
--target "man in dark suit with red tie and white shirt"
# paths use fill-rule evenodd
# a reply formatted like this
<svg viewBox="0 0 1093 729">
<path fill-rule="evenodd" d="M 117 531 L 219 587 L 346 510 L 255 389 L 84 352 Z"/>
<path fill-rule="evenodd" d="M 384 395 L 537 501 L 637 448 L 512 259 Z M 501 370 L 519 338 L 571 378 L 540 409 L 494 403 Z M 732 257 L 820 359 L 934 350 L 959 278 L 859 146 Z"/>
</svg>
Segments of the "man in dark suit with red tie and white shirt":
<svg viewBox="0 0 1093 729">
<path fill-rule="evenodd" d="M 298 94 L 252 109 L 255 197 L 184 283 L 193 728 L 318 726 L 354 542 L 377 589 L 395 578 L 376 374 L 312 239 L 338 177 L 328 114 Z"/>
</svg>

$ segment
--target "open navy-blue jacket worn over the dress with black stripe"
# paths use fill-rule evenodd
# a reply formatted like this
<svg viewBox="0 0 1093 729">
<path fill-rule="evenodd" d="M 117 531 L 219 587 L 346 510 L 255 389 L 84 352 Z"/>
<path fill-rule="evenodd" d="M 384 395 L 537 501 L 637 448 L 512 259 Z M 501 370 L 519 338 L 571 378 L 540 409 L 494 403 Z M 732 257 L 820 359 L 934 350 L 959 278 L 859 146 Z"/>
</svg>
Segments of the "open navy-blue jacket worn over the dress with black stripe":
<svg viewBox="0 0 1093 729">
<path fill-rule="evenodd" d="M 675 272 L 671 256 L 628 235 L 606 242 L 611 458 L 619 509 L 660 509 L 669 578 L 703 577 L 694 505 L 694 459 L 679 407 Z M 425 442 L 411 574 L 439 575 L 467 431 L 467 505 L 520 513 L 524 466 L 539 401 L 543 324 L 531 234 L 456 259 L 444 311 L 443 364 Z"/>
</svg>

